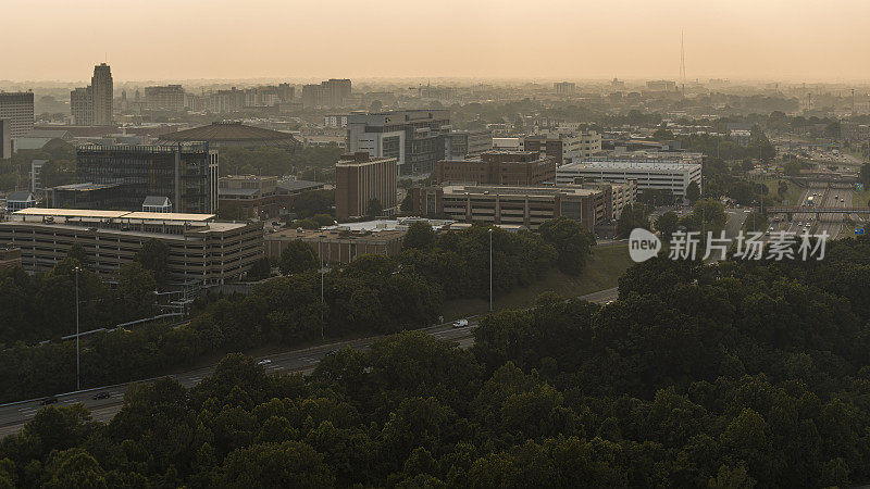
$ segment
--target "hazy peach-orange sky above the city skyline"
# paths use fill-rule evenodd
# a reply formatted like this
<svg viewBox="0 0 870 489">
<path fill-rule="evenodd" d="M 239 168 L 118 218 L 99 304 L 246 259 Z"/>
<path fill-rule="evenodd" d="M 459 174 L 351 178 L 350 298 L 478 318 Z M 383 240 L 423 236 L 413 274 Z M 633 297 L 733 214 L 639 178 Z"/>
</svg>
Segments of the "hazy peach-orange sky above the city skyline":
<svg viewBox="0 0 870 489">
<path fill-rule="evenodd" d="M 870 0 L 2 0 L 0 79 L 870 80 Z"/>
</svg>

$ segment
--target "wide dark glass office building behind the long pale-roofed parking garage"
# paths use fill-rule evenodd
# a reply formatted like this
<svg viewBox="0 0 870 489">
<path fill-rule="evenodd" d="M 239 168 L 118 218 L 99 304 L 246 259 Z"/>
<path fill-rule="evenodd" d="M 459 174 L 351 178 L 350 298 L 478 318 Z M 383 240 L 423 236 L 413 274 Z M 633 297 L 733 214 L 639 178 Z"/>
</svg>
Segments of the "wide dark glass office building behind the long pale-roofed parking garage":
<svg viewBox="0 0 870 489">
<path fill-rule="evenodd" d="M 85 145 L 76 150 L 76 179 L 84 187 L 54 189 L 54 206 L 89 201 L 94 209 L 141 209 L 147 197 L 160 196 L 175 212 L 217 211 L 217 151 L 208 143 Z M 76 195 L 95 190 L 102 199 Z"/>
</svg>

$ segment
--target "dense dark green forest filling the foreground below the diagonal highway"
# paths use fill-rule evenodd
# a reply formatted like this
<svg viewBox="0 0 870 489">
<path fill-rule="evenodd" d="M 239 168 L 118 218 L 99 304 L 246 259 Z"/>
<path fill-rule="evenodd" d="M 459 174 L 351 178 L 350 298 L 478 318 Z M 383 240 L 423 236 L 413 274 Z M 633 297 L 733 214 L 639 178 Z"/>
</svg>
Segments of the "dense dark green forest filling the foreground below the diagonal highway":
<svg viewBox="0 0 870 489">
<path fill-rule="evenodd" d="M 340 275 L 389 288 L 395 271 L 368 256 Z M 820 262 L 652 259 L 622 277 L 613 303 L 550 293 L 484 317 L 471 350 L 400 333 L 328 355 L 309 377 L 270 376 L 232 354 L 191 389 L 170 378 L 130 387 L 104 425 L 79 406 L 41 410 L 0 441 L 0 482 L 866 484 L 868 273 L 870 239 L 837 242 Z M 257 301 L 276 301 L 293 322 L 293 301 L 314 302 L 310 279 L 271 280 Z M 377 314 L 343 297 L 343 315 Z M 254 302 L 217 308 L 210 322 L 249 321 Z"/>
</svg>

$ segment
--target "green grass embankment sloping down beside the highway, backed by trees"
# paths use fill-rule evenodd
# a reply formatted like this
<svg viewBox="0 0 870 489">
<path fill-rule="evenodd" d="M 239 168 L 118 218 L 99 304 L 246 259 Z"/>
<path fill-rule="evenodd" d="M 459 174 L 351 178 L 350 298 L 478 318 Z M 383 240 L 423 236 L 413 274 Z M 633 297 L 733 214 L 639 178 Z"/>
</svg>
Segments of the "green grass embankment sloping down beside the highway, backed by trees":
<svg viewBox="0 0 870 489">
<path fill-rule="evenodd" d="M 556 268 L 531 286 L 509 293 L 496 294 L 494 309 L 530 305 L 540 293 L 548 290 L 564 297 L 585 296 L 598 290 L 616 287 L 619 277 L 631 266 L 627 244 L 596 247 L 579 276 L 566 275 Z M 452 321 L 489 310 L 489 301 L 484 299 L 456 299 L 444 304 L 444 321 Z"/>
</svg>

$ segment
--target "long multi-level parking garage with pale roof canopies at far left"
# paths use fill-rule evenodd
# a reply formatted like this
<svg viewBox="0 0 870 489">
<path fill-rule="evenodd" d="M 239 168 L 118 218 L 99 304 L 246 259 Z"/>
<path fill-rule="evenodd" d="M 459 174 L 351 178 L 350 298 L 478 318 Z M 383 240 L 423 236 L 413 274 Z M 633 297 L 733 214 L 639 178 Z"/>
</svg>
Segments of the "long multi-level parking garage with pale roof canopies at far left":
<svg viewBox="0 0 870 489">
<path fill-rule="evenodd" d="M 108 275 L 133 262 L 149 239 L 169 246 L 166 271 L 176 284 L 232 281 L 263 255 L 262 225 L 217 223 L 212 214 L 32 208 L 0 223 L 0 244 L 20 248 L 30 273 L 50 271 L 77 243 L 87 266 Z"/>
</svg>

